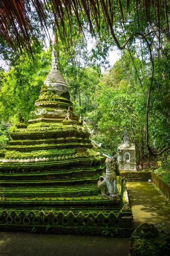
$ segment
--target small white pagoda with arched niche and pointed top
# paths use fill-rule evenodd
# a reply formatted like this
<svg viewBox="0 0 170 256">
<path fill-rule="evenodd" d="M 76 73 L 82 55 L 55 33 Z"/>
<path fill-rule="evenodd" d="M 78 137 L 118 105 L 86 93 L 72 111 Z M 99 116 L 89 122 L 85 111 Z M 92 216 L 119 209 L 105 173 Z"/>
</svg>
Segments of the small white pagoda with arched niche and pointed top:
<svg viewBox="0 0 170 256">
<path fill-rule="evenodd" d="M 136 171 L 135 144 L 129 143 L 129 134 L 125 127 L 123 142 L 118 145 L 119 171 Z"/>
</svg>

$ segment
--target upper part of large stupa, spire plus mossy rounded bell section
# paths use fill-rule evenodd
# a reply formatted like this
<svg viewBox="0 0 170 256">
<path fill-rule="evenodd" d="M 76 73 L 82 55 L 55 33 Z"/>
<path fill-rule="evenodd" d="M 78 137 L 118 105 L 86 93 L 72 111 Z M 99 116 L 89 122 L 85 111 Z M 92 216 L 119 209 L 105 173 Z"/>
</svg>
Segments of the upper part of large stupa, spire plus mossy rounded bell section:
<svg viewBox="0 0 170 256">
<path fill-rule="evenodd" d="M 28 120 L 30 124 L 35 122 L 63 122 L 65 118 L 79 124 L 78 116 L 74 113 L 73 104 L 70 100 L 68 85 L 60 72 L 56 43 L 56 38 L 54 38 L 51 70 L 41 88 L 40 97 L 35 102 L 33 118 Z"/>
</svg>

